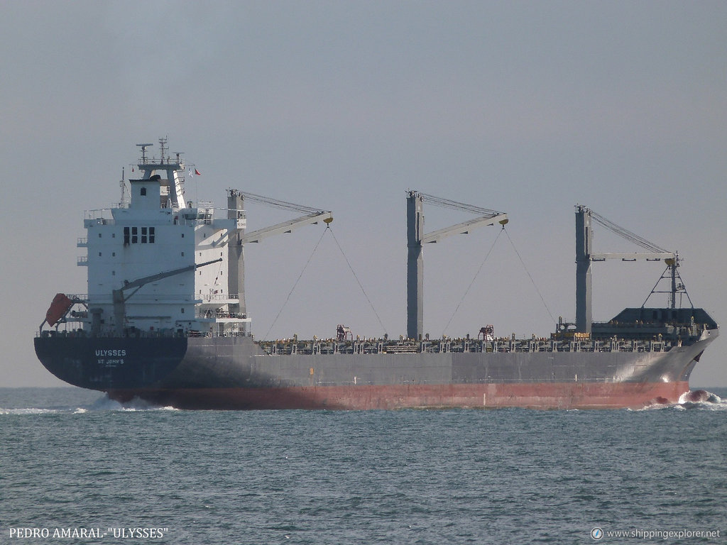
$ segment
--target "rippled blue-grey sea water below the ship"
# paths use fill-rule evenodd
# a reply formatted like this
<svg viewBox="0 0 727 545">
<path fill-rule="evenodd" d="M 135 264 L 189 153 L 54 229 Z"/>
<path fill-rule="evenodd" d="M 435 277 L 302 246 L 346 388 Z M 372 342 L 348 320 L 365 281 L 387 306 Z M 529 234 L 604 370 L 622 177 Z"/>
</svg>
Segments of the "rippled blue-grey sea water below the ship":
<svg viewBox="0 0 727 545">
<path fill-rule="evenodd" d="M 177 411 L 0 389 L 0 543 L 725 543 L 711 391 L 642 411 Z"/>
</svg>

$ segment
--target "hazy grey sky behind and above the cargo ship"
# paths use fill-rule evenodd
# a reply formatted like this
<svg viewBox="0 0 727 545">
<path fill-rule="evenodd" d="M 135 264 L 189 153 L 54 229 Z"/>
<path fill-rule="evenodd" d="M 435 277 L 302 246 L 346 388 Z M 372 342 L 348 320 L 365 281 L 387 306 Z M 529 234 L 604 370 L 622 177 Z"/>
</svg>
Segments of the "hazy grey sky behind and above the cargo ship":
<svg viewBox="0 0 727 545">
<path fill-rule="evenodd" d="M 485 227 L 425 248 L 432 336 L 487 323 L 547 336 L 550 315 L 574 320 L 576 203 L 678 250 L 695 306 L 727 316 L 723 1 L 26 0 L 2 12 L 0 387 L 63 384 L 33 332 L 56 292 L 87 291 L 84 210 L 118 201 L 134 144 L 164 136 L 202 173 L 188 194 L 223 206 L 236 187 L 332 210 L 390 336 L 406 333 L 407 188 L 510 215 L 513 245 Z M 427 231 L 467 218 L 425 214 Z M 277 219 L 248 206 L 251 228 Z M 384 333 L 327 234 L 283 308 L 322 230 L 246 248 L 257 338 L 332 336 L 337 323 Z M 603 229 L 595 246 L 636 250 Z M 640 306 L 662 270 L 596 263 L 594 318 Z M 727 385 L 726 346 L 710 347 L 693 385 Z"/>
</svg>

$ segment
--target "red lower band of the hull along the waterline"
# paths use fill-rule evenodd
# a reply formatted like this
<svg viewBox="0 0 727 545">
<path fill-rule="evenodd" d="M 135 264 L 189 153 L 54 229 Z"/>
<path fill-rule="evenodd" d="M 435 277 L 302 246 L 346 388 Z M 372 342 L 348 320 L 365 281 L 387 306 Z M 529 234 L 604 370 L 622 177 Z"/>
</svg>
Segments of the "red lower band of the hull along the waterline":
<svg viewBox="0 0 727 545">
<path fill-rule="evenodd" d="M 123 389 L 134 397 L 189 409 L 643 408 L 678 403 L 688 382 L 400 384 L 287 388 Z"/>
</svg>

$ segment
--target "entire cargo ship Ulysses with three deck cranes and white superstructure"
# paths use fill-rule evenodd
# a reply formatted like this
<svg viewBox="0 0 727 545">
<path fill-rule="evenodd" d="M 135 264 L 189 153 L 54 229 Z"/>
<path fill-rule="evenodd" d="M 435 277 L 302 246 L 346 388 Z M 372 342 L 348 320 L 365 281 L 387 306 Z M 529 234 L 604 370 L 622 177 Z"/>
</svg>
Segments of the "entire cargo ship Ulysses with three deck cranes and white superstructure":
<svg viewBox="0 0 727 545">
<path fill-rule="evenodd" d="M 427 234 L 425 202 L 462 203 L 408 190 L 406 336 L 354 339 L 341 325 L 326 339 L 256 340 L 244 246 L 332 214 L 233 189 L 224 209 L 188 201 L 185 179 L 199 173 L 159 143 L 159 158 L 148 156 L 151 144 L 137 145 L 138 177 L 122 171 L 118 206 L 86 212 L 77 246 L 87 249 L 78 265 L 87 267 L 88 293 L 57 294 L 34 339 L 52 374 L 113 400 L 189 409 L 642 408 L 688 396 L 689 376 L 718 336 L 691 299 L 677 304 L 686 294 L 677 253 L 577 205 L 574 323 L 560 319 L 549 336 L 526 339 L 497 337 L 493 326 L 430 339 L 422 334 L 422 247 L 481 225 L 505 228 L 507 214 L 465 206 L 478 217 Z M 251 200 L 303 215 L 250 231 Z M 594 220 L 646 251 L 596 253 Z M 662 260 L 667 305 L 593 322 L 591 263 L 603 259 Z"/>
</svg>

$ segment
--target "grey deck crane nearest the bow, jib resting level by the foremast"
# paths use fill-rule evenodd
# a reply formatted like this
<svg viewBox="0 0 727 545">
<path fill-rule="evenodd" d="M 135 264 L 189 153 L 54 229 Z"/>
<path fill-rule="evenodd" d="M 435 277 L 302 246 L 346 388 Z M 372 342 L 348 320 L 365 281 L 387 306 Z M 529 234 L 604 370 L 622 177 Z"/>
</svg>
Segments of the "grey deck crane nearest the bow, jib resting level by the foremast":
<svg viewBox="0 0 727 545">
<path fill-rule="evenodd" d="M 612 233 L 619 235 L 641 248 L 645 252 L 633 253 L 595 253 L 593 252 L 593 231 L 591 230 L 591 220 L 599 225 L 606 227 Z M 606 259 L 621 259 L 622 261 L 636 261 L 637 259 L 646 259 L 646 261 L 661 261 L 667 264 L 667 270 L 670 271 L 672 280 L 672 288 L 670 291 L 670 306 L 675 307 L 677 291 L 683 291 L 683 284 L 677 283 L 677 279 L 681 280 L 677 267 L 679 267 L 679 254 L 676 251 L 667 251 L 656 244 L 647 241 L 645 238 L 635 235 L 631 231 L 619 227 L 614 222 L 609 221 L 601 214 L 589 209 L 587 206 L 576 205 L 576 331 L 580 333 L 590 334 L 593 323 L 591 314 L 591 262 L 606 261 Z M 666 271 L 665 271 L 666 272 Z M 662 278 L 664 275 L 662 274 Z M 660 279 L 661 280 L 661 279 Z M 656 283 L 659 284 L 659 281 Z M 656 286 L 651 294 L 656 293 Z M 651 295 L 650 295 L 651 296 Z M 646 298 L 648 300 L 648 297 Z M 646 302 L 644 302 L 646 304 Z"/>
</svg>

